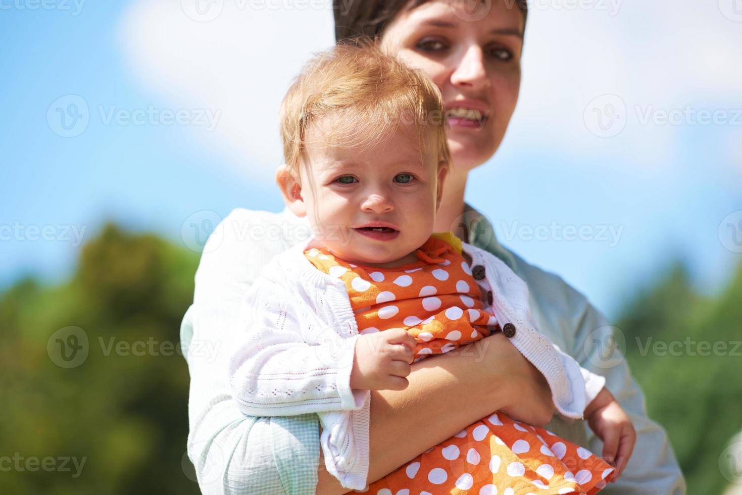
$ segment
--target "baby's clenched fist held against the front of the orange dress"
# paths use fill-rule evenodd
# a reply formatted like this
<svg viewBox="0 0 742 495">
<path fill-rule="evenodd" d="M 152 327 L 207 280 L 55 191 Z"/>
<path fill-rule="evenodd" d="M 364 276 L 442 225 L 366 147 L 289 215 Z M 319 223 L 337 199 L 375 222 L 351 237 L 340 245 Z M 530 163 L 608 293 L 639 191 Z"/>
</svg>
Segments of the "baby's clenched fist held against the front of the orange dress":
<svg viewBox="0 0 742 495">
<path fill-rule="evenodd" d="M 361 335 L 355 341 L 350 388 L 404 390 L 415 359 L 415 338 L 407 330 L 392 328 Z"/>
</svg>

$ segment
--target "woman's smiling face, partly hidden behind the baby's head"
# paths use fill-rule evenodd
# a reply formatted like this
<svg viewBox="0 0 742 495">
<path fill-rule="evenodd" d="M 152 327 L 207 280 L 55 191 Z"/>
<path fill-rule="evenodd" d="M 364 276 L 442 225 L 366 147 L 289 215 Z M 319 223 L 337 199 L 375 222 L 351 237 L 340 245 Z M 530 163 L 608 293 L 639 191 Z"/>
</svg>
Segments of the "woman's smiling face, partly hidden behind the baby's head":
<svg viewBox="0 0 742 495">
<path fill-rule="evenodd" d="M 474 13 L 470 4 L 433 0 L 403 10 L 381 38 L 381 47 L 441 89 L 457 171 L 485 163 L 505 136 L 518 101 L 525 29 L 516 2 L 485 0 Z"/>
</svg>

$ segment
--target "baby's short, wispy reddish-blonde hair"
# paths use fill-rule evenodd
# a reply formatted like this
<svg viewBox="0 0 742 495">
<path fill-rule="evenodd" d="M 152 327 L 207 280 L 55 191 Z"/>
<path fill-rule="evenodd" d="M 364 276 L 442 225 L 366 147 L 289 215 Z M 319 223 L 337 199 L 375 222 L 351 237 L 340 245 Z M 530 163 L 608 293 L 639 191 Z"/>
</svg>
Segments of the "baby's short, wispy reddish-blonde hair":
<svg viewBox="0 0 742 495">
<path fill-rule="evenodd" d="M 280 107 L 289 170 L 296 170 L 304 157 L 309 125 L 324 117 L 340 117 L 323 134 L 326 145 L 375 145 L 398 125 L 414 124 L 421 157 L 433 138 L 439 160 L 453 165 L 438 87 L 426 73 L 407 67 L 371 41 L 318 53 L 289 88 Z"/>
</svg>

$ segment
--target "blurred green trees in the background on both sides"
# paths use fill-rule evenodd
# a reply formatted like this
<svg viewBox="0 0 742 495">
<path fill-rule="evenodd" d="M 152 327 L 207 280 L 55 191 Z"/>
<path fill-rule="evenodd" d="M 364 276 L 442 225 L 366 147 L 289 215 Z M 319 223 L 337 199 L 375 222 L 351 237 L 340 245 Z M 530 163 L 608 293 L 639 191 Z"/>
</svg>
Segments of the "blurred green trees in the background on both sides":
<svg viewBox="0 0 742 495">
<path fill-rule="evenodd" d="M 189 378 L 177 347 L 198 258 L 154 235 L 108 225 L 82 249 L 68 283 L 26 280 L 0 297 L 0 456 L 23 457 L 23 471 L 11 459 L 11 470 L 0 473 L 0 494 L 199 493 L 185 458 Z M 718 456 L 742 427 L 741 350 L 733 348 L 741 339 L 740 268 L 718 297 L 704 299 L 674 266 L 636 295 L 617 324 L 649 415 L 666 427 L 690 494 L 720 493 L 726 481 Z M 65 369 L 47 344 L 53 349 L 53 334 L 69 326 L 85 332 L 89 353 Z M 700 347 L 686 346 L 686 337 L 726 342 L 726 355 L 692 355 L 688 350 Z M 683 341 L 680 355 L 660 355 L 657 341 Z M 28 471 L 31 457 L 53 458 L 59 468 L 64 457 L 85 465 Z"/>
</svg>

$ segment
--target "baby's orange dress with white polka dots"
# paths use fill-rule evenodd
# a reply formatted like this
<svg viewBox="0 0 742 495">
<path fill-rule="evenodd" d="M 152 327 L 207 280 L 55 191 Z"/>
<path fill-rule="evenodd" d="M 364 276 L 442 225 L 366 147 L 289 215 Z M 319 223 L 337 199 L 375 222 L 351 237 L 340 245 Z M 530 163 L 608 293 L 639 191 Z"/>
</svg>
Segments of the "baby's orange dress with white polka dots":
<svg viewBox="0 0 742 495">
<path fill-rule="evenodd" d="M 417 341 L 415 361 L 500 330 L 461 254 L 461 240 L 450 232 L 434 234 L 417 250 L 416 262 L 395 268 L 347 263 L 324 248 L 304 255 L 345 282 L 361 334 L 403 328 Z M 585 448 L 492 413 L 371 483 L 364 493 L 596 494 L 613 473 Z"/>
</svg>

